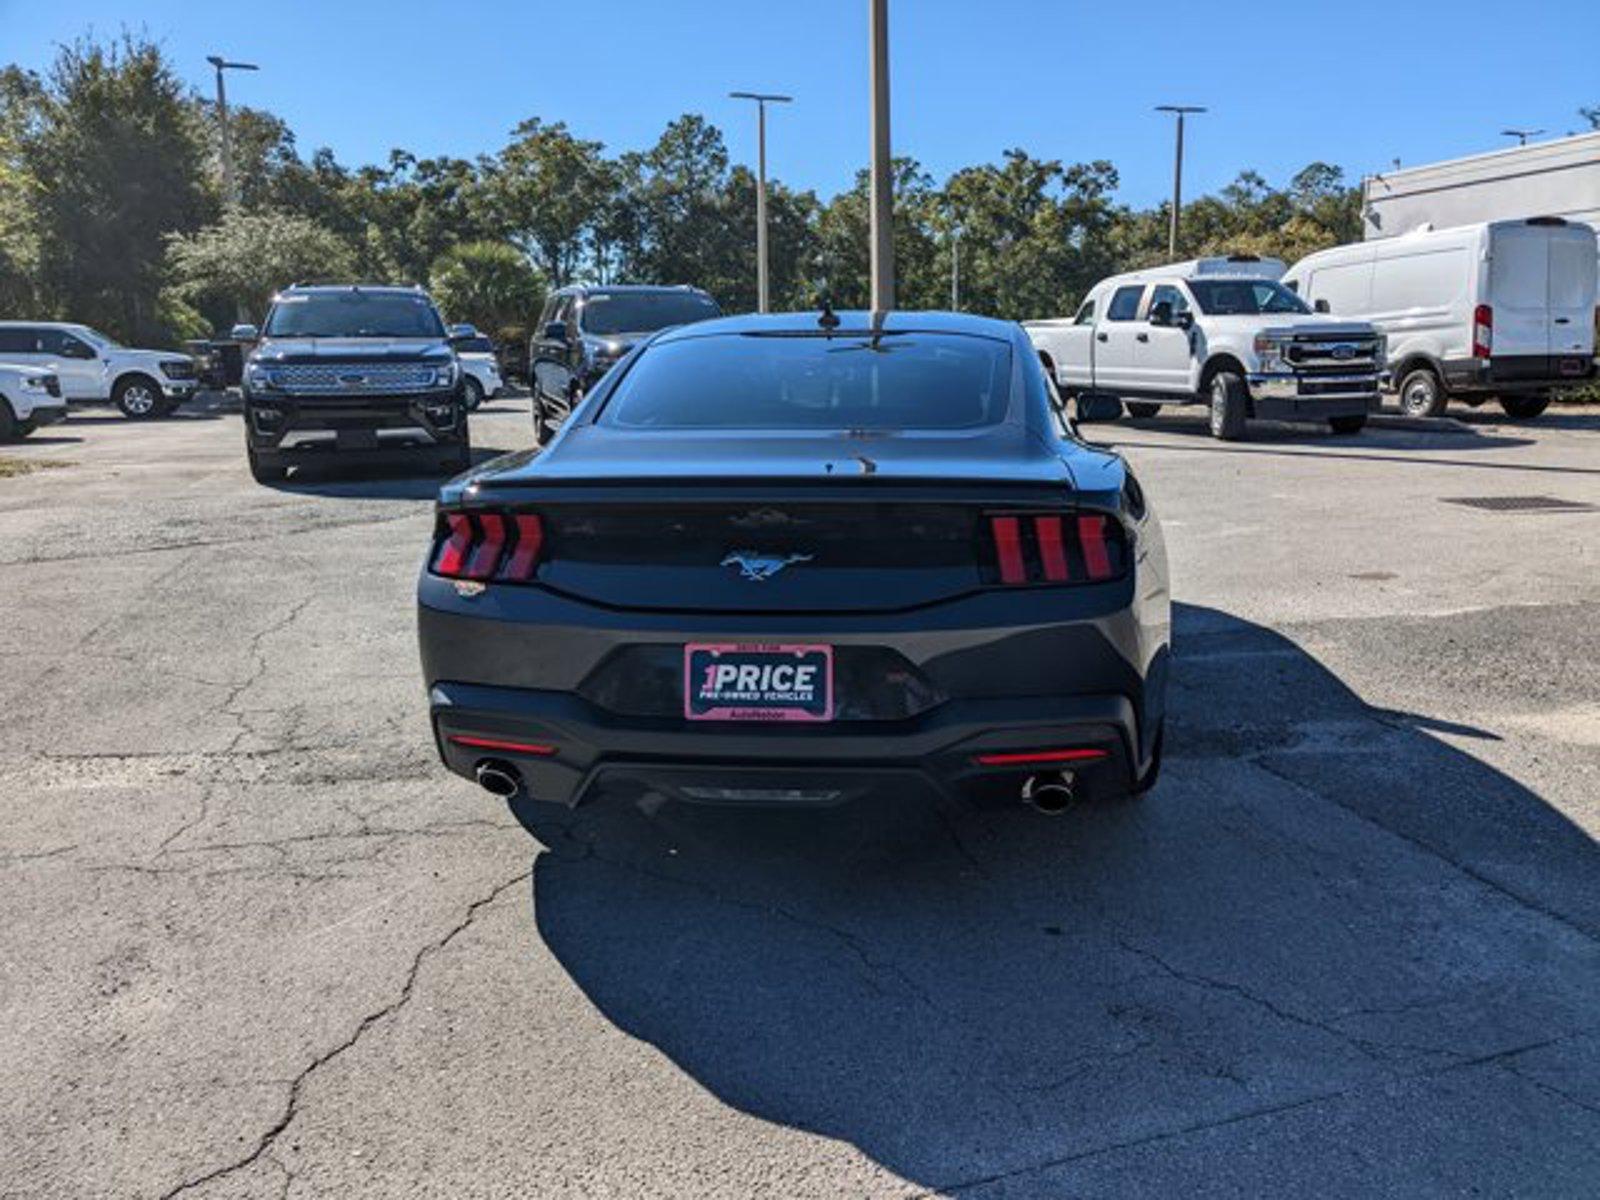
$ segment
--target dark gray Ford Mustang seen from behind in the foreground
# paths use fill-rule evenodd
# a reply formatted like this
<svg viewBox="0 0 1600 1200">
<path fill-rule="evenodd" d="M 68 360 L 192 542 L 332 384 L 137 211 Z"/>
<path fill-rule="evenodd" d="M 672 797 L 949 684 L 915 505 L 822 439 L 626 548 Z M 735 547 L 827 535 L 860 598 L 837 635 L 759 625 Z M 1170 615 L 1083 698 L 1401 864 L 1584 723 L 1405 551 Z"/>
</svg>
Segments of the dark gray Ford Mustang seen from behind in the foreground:
<svg viewBox="0 0 1600 1200">
<path fill-rule="evenodd" d="M 1160 765 L 1160 526 L 997 320 L 651 338 L 443 488 L 418 626 L 438 754 L 502 795 L 1053 811 Z"/>
</svg>

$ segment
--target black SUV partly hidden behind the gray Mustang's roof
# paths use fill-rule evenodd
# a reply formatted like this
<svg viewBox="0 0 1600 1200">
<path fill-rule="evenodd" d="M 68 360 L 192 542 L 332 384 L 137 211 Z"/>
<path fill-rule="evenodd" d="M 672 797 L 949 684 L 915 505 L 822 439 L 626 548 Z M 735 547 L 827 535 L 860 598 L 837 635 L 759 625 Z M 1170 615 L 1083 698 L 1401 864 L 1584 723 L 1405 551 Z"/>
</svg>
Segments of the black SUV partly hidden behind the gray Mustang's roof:
<svg viewBox="0 0 1600 1200">
<path fill-rule="evenodd" d="M 533 435 L 542 446 L 616 362 L 653 333 L 720 317 L 699 288 L 608 283 L 550 293 L 528 346 Z"/>
</svg>

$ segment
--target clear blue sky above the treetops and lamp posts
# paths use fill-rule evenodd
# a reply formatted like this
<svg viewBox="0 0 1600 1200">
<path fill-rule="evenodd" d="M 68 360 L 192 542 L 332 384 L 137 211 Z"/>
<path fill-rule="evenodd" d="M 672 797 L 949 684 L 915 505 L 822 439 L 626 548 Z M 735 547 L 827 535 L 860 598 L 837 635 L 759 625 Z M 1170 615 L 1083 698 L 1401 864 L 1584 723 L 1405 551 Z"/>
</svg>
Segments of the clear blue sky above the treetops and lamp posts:
<svg viewBox="0 0 1600 1200">
<path fill-rule="evenodd" d="M 770 170 L 832 194 L 867 155 L 866 14 L 867 0 L 0 0 L 0 62 L 43 67 L 56 43 L 123 27 L 197 86 L 208 53 L 253 59 L 234 98 L 347 163 L 490 152 L 530 115 L 637 149 L 686 110 L 752 162 L 754 115 L 725 93 L 787 91 Z M 1187 195 L 1243 168 L 1282 182 L 1323 158 L 1358 178 L 1504 146 L 1507 125 L 1568 133 L 1600 104 L 1597 0 L 891 0 L 891 40 L 898 154 L 939 178 L 1010 146 L 1110 158 L 1136 205 L 1171 187 L 1158 102 L 1211 107 L 1190 125 Z"/>
</svg>

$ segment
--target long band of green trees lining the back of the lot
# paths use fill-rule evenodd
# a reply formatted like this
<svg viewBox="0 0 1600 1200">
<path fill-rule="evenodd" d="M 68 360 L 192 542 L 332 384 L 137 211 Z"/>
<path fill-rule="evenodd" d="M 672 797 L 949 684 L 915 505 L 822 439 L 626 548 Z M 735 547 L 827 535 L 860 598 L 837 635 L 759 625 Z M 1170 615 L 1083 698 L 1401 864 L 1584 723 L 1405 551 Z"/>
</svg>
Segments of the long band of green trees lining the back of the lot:
<svg viewBox="0 0 1600 1200">
<path fill-rule="evenodd" d="M 176 336 L 259 314 L 307 275 L 427 282 L 454 318 L 499 333 L 573 282 L 694 283 L 755 307 L 755 176 L 698 114 L 618 155 L 530 117 L 493 155 L 395 149 L 354 168 L 302 155 L 270 112 L 229 122 L 238 206 L 224 213 L 214 107 L 155 45 L 85 40 L 43 77 L 0 69 L 0 315 Z M 1104 275 L 1166 258 L 1166 206 L 1117 203 L 1109 162 L 1011 149 L 939 182 L 898 158 L 893 186 L 901 307 L 947 307 L 958 269 L 963 309 L 1061 314 Z M 773 307 L 864 307 L 867 216 L 864 171 L 832 198 L 768 181 Z M 1283 187 L 1245 171 L 1190 202 L 1179 251 L 1293 261 L 1360 232 L 1358 190 L 1312 163 Z"/>
</svg>

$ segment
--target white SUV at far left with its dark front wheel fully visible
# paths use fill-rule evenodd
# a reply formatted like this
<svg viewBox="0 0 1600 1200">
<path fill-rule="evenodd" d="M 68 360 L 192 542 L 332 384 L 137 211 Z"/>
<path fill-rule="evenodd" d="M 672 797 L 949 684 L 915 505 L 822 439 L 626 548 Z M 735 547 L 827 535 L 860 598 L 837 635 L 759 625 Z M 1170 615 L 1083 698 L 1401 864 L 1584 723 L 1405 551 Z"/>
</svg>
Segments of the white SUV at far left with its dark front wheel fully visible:
<svg viewBox="0 0 1600 1200">
<path fill-rule="evenodd" d="M 0 362 L 38 366 L 61 379 L 67 402 L 109 400 L 131 418 L 166 416 L 198 387 L 194 358 L 131 350 L 67 322 L 0 322 Z"/>
</svg>

